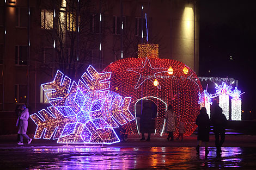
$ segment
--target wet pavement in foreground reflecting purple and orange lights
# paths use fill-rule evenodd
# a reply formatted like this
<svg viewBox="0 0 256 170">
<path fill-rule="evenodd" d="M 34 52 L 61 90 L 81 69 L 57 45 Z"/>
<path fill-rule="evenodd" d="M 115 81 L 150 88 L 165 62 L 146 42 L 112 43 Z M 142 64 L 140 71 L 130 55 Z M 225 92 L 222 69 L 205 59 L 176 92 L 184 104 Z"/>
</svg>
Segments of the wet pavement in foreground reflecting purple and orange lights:
<svg viewBox="0 0 256 170">
<path fill-rule="evenodd" d="M 12 146 L 0 147 L 1 169 L 254 169 L 256 148 Z"/>
</svg>

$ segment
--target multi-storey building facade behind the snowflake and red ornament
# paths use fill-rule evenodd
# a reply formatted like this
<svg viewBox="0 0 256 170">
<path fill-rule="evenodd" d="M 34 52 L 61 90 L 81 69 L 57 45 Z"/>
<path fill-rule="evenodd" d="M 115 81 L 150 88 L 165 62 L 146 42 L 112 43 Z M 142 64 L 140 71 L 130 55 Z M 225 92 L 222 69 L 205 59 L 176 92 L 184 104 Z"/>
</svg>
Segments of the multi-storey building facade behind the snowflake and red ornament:
<svg viewBox="0 0 256 170">
<path fill-rule="evenodd" d="M 198 73 L 199 1 L 1 0 L 0 108 L 39 111 L 48 105 L 40 85 L 57 70 L 77 80 L 88 65 L 136 58 L 147 42 Z"/>
</svg>

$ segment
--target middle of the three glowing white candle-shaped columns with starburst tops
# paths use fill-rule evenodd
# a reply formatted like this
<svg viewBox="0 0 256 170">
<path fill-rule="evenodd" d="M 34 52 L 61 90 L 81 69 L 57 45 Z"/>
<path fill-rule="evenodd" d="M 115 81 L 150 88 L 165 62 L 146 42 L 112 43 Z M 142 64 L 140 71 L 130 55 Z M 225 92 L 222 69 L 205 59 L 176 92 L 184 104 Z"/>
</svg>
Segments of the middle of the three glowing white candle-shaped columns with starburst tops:
<svg viewBox="0 0 256 170">
<path fill-rule="evenodd" d="M 225 115 L 225 117 L 229 118 L 229 95 L 231 94 L 231 85 L 227 85 L 224 82 L 222 82 L 222 85 L 218 86 L 216 84 L 215 86 L 216 93 L 219 96 L 219 106 L 222 108 L 222 113 Z"/>
</svg>

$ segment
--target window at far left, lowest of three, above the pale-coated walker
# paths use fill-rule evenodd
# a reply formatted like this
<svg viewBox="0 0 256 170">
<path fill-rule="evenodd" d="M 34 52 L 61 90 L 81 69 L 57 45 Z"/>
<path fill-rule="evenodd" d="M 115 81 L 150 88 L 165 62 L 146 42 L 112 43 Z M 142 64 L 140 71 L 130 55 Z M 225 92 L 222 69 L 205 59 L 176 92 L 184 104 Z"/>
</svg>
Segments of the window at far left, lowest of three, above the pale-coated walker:
<svg viewBox="0 0 256 170">
<path fill-rule="evenodd" d="M 26 103 L 27 85 L 15 84 L 15 103 Z"/>
</svg>

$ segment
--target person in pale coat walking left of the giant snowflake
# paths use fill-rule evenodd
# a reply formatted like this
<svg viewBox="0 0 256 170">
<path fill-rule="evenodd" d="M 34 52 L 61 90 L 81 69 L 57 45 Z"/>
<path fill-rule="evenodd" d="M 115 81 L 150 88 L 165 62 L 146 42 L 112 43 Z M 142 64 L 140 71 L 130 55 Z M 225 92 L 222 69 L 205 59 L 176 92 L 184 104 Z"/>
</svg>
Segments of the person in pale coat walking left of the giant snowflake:
<svg viewBox="0 0 256 170">
<path fill-rule="evenodd" d="M 29 112 L 25 104 L 21 105 L 21 110 L 22 112 L 20 116 L 20 123 L 19 123 L 19 130 L 18 130 L 18 134 L 20 134 L 20 141 L 17 144 L 19 145 L 23 144 L 23 137 L 27 138 L 28 144 L 30 144 L 32 141 L 32 138 L 30 138 L 27 135 Z"/>
</svg>

